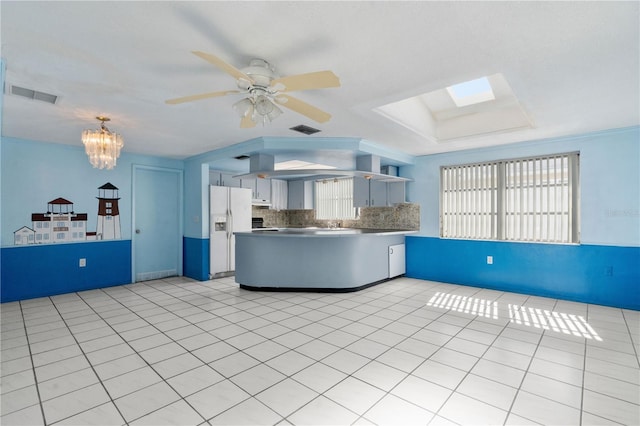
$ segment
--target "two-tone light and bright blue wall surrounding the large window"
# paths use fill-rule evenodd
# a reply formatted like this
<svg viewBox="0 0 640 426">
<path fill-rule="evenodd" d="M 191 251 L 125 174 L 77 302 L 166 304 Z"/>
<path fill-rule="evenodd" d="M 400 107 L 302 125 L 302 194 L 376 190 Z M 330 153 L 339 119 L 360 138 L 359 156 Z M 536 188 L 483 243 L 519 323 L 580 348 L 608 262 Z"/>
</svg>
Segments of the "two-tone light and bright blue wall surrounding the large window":
<svg viewBox="0 0 640 426">
<path fill-rule="evenodd" d="M 580 151 L 579 245 L 439 238 L 440 166 Z M 421 229 L 407 238 L 407 276 L 640 309 L 640 128 L 423 156 L 414 179 Z M 493 256 L 493 265 L 487 264 Z"/>
</svg>

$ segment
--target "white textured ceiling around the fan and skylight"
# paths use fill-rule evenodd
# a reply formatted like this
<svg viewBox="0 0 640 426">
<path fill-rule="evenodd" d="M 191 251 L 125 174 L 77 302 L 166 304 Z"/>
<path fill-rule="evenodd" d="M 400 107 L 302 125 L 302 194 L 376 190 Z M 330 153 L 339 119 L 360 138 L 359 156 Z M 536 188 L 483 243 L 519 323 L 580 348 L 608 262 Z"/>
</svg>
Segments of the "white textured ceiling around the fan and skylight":
<svg viewBox="0 0 640 426">
<path fill-rule="evenodd" d="M 640 124 L 639 2 L 0 2 L 6 85 L 59 96 L 4 95 L 2 135 L 81 145 L 96 115 L 124 151 L 186 158 L 258 136 L 356 137 L 422 155 Z M 290 110 L 240 129 L 235 89 L 193 55 L 237 68 L 253 57 L 280 75 L 333 70 L 342 87 L 295 96 L 333 115 Z M 429 141 L 372 111 L 502 73 L 533 128 Z"/>
</svg>

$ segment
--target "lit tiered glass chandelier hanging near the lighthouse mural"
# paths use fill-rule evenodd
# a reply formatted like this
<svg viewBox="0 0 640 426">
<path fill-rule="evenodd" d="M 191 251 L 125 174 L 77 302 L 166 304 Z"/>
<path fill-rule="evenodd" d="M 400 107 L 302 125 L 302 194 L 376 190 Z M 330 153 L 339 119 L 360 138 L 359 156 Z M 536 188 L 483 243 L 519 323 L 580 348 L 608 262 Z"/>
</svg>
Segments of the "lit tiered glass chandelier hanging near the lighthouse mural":
<svg viewBox="0 0 640 426">
<path fill-rule="evenodd" d="M 120 156 L 120 149 L 124 146 L 122 136 L 112 133 L 104 125 L 110 121 L 109 117 L 96 117 L 100 121 L 100 129 L 82 132 L 82 143 L 89 156 L 89 162 L 94 168 L 111 170 L 116 166 L 116 159 Z"/>
</svg>

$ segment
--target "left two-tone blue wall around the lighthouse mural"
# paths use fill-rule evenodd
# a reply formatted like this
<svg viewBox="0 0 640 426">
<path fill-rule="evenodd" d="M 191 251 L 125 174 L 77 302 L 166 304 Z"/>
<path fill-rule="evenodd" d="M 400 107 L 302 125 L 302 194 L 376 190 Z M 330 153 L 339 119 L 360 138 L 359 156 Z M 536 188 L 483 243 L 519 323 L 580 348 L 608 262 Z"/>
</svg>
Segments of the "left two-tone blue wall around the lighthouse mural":
<svg viewBox="0 0 640 426">
<path fill-rule="evenodd" d="M 130 283 L 133 165 L 184 167 L 179 160 L 123 152 L 115 169 L 94 169 L 79 139 L 78 135 L 77 145 L 72 146 L 2 138 L 2 302 Z M 47 202 L 58 197 L 72 201 L 74 211 L 87 213 L 87 230 L 95 231 L 97 188 L 106 182 L 119 189 L 122 240 L 13 245 L 13 232 L 31 227 L 31 213 L 45 212 Z M 87 267 L 79 267 L 80 258 L 87 259 Z"/>
</svg>

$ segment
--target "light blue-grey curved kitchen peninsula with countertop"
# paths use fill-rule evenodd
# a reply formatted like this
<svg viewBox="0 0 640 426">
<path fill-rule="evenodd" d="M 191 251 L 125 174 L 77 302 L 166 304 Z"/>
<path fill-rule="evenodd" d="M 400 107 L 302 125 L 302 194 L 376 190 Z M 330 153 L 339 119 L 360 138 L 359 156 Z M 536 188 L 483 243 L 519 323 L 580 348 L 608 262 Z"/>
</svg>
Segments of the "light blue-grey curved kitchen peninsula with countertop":
<svg viewBox="0 0 640 426">
<path fill-rule="evenodd" d="M 251 290 L 356 291 L 404 273 L 415 231 L 280 228 L 237 232 L 235 280 Z"/>
</svg>

